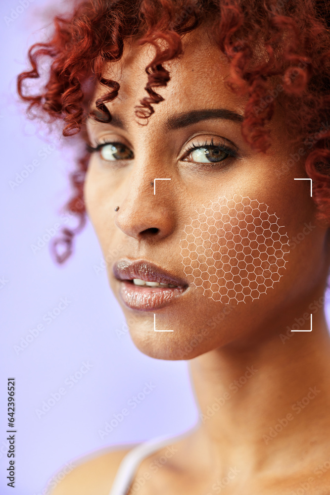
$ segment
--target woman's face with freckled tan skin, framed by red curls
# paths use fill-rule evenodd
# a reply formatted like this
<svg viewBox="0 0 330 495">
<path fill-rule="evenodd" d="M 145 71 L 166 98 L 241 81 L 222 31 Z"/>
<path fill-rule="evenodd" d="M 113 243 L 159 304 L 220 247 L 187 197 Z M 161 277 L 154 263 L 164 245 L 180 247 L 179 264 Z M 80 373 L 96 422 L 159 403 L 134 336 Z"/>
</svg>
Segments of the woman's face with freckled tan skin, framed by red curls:
<svg viewBox="0 0 330 495">
<path fill-rule="evenodd" d="M 121 85 L 108 103 L 115 117 L 88 122 L 92 146 L 120 143 L 92 154 L 88 214 L 133 341 L 161 359 L 279 335 L 308 312 L 329 263 L 310 181 L 294 180 L 306 176 L 309 148 L 290 146 L 277 106 L 266 126 L 271 148 L 253 151 L 240 130 L 248 98 L 225 88 L 224 55 L 203 28 L 183 45 L 164 64 L 171 81 L 155 88 L 164 101 L 147 125 L 135 106 L 146 96 L 151 46 L 126 45 L 109 65 Z M 103 93 L 97 87 L 93 102 Z"/>
</svg>

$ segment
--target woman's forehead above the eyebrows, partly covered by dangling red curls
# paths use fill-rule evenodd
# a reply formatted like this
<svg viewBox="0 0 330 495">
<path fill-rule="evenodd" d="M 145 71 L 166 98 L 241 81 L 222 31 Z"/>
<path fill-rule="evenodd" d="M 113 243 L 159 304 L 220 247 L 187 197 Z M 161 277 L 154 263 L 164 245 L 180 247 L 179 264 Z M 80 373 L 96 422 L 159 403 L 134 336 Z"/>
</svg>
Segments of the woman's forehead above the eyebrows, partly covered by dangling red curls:
<svg viewBox="0 0 330 495">
<path fill-rule="evenodd" d="M 161 45 L 162 49 L 166 48 L 163 42 Z M 248 97 L 237 97 L 224 86 L 230 75 L 230 64 L 209 38 L 206 28 L 199 26 L 187 33 L 182 38 L 182 45 L 183 53 L 178 58 L 162 64 L 170 73 L 171 80 L 167 86 L 153 88 L 165 99 L 160 102 L 163 116 L 188 108 L 216 108 L 219 104 L 243 113 Z M 125 42 L 121 60 L 107 64 L 103 77 L 120 84 L 118 97 L 108 103 L 110 112 L 111 109 L 116 113 L 120 111 L 132 118 L 133 107 L 148 96 L 145 91 L 145 68 L 155 53 L 155 48 L 150 44 L 139 46 L 137 42 Z M 98 83 L 92 103 L 106 92 L 106 88 Z M 157 113 L 157 105 L 153 106 Z"/>
</svg>

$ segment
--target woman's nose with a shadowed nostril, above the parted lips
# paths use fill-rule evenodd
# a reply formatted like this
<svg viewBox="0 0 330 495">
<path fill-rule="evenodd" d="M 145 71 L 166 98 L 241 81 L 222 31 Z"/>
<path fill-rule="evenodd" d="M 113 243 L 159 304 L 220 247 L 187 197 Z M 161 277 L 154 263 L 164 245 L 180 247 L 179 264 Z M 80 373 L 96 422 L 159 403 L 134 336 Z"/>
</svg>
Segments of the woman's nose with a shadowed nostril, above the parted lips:
<svg viewBox="0 0 330 495">
<path fill-rule="evenodd" d="M 157 181 L 154 194 L 155 178 L 170 178 L 164 173 L 155 175 L 157 173 L 162 172 L 141 168 L 135 163 L 122 184 L 125 195 L 115 224 L 124 234 L 138 241 L 159 241 L 175 230 L 174 180 Z"/>
</svg>

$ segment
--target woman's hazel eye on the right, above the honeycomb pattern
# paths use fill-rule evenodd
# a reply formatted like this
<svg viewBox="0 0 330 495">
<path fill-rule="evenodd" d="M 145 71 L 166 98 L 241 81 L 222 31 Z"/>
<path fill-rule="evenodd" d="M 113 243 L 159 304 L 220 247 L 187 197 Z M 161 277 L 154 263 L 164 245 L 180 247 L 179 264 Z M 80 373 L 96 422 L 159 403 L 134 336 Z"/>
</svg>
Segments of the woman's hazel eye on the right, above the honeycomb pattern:
<svg viewBox="0 0 330 495">
<path fill-rule="evenodd" d="M 189 156 L 191 160 L 187 159 Z M 219 163 L 225 160 L 228 156 L 237 157 L 237 151 L 234 148 L 230 148 L 225 143 L 220 142 L 214 145 L 213 138 L 211 143 L 205 141 L 203 145 L 192 144 L 186 153 L 184 161 L 193 161 L 195 163 Z"/>
</svg>

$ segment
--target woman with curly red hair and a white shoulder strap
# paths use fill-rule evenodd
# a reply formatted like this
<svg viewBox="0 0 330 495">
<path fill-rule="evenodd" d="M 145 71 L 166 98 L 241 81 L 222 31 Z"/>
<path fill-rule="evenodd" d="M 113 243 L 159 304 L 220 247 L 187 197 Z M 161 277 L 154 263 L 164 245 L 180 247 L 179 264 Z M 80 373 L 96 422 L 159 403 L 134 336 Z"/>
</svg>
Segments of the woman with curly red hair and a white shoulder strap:
<svg viewBox="0 0 330 495">
<path fill-rule="evenodd" d="M 79 2 L 30 51 L 20 96 L 87 141 L 69 210 L 118 253 L 136 346 L 189 360 L 201 418 L 83 463 L 55 495 L 330 493 L 326 10 Z"/>
</svg>

